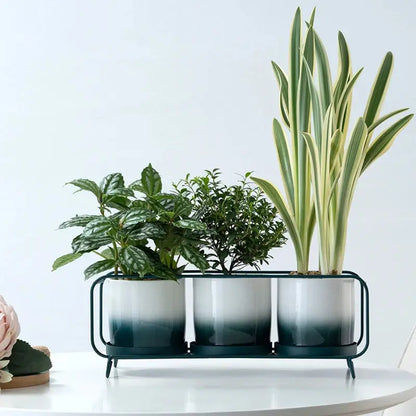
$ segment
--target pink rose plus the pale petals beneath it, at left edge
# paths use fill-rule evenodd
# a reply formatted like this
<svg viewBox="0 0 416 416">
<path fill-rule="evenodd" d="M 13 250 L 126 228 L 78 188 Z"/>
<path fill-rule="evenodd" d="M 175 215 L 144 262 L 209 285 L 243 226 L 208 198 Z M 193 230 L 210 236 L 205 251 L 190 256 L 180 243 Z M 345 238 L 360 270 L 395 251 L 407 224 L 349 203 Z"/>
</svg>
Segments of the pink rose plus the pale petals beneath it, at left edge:
<svg viewBox="0 0 416 416">
<path fill-rule="evenodd" d="M 8 383 L 12 374 L 7 370 L 13 346 L 20 334 L 20 325 L 16 312 L 2 296 L 0 296 L 0 383 Z"/>
</svg>

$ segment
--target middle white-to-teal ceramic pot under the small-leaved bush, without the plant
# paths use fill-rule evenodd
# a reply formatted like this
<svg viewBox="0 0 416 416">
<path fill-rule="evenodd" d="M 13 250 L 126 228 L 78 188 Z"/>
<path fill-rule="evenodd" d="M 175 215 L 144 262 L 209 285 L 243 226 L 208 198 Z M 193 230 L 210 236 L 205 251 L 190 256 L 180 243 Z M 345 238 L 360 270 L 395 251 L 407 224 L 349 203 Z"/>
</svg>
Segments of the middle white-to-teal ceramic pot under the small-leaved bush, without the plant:
<svg viewBox="0 0 416 416">
<path fill-rule="evenodd" d="M 270 343 L 270 279 L 204 277 L 193 285 L 196 344 Z"/>
</svg>

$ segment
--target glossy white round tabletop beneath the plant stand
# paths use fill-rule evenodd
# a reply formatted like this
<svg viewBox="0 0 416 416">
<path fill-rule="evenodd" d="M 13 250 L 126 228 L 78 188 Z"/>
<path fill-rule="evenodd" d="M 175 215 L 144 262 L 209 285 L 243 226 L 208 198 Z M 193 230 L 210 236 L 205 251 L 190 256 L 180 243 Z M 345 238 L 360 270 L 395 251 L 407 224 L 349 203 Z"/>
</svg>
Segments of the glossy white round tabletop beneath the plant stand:
<svg viewBox="0 0 416 416">
<path fill-rule="evenodd" d="M 49 385 L 2 390 L 0 414 L 336 416 L 416 396 L 416 376 L 356 362 L 280 359 L 120 360 L 109 379 L 93 353 L 52 355 Z"/>
</svg>

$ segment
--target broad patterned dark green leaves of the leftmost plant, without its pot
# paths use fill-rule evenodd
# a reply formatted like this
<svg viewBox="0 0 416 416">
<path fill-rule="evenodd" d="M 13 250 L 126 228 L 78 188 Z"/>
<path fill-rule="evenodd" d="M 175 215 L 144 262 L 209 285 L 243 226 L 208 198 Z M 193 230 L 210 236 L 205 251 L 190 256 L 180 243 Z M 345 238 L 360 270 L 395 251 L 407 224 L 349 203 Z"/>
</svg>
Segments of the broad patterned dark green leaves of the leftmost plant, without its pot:
<svg viewBox="0 0 416 416">
<path fill-rule="evenodd" d="M 95 196 L 99 215 L 77 215 L 59 226 L 82 227 L 82 232 L 72 240 L 72 252 L 55 260 L 53 270 L 86 253 L 101 257 L 84 271 L 87 279 L 111 269 L 115 275 L 176 279 L 184 269 L 179 266 L 181 258 L 200 270 L 208 268 L 199 239 L 205 225 L 190 218 L 189 199 L 162 192 L 160 175 L 152 165 L 130 186 L 125 186 L 120 173 L 107 175 L 100 185 L 89 179 L 69 184 L 78 188 L 76 192 Z"/>
</svg>

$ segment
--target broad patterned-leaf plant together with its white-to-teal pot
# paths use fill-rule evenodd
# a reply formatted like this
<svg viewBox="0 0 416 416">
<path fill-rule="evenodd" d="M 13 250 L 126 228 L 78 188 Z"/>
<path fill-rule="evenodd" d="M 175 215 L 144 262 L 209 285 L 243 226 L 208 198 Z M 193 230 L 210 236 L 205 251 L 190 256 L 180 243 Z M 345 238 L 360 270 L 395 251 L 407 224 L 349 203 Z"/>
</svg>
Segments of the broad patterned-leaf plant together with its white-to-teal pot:
<svg viewBox="0 0 416 416">
<path fill-rule="evenodd" d="M 163 193 L 151 165 L 130 186 L 120 173 L 107 175 L 100 185 L 88 179 L 69 183 L 95 196 L 99 215 L 77 215 L 60 225 L 80 226 L 82 232 L 72 240 L 72 253 L 59 257 L 53 270 L 86 253 L 98 255 L 101 259 L 84 275 L 88 279 L 113 271 L 108 284 L 110 344 L 141 354 L 185 352 L 184 265 L 179 261 L 208 268 L 198 237 L 205 225 L 190 218 L 191 202 Z"/>
</svg>

